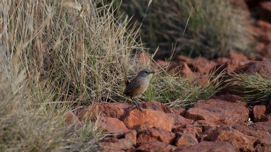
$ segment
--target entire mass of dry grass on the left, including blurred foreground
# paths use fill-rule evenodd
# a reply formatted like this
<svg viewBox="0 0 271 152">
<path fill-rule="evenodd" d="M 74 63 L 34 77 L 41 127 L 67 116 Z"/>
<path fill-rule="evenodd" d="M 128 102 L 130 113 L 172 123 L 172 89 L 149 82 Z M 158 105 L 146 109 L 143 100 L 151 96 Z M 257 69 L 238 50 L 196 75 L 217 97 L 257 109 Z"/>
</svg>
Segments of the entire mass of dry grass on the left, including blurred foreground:
<svg viewBox="0 0 271 152">
<path fill-rule="evenodd" d="M 97 1 L 0 6 L 0 151 L 98 150 L 97 122 L 65 120 L 80 102 L 118 96 L 116 57 L 140 46 L 128 19 Z"/>
</svg>

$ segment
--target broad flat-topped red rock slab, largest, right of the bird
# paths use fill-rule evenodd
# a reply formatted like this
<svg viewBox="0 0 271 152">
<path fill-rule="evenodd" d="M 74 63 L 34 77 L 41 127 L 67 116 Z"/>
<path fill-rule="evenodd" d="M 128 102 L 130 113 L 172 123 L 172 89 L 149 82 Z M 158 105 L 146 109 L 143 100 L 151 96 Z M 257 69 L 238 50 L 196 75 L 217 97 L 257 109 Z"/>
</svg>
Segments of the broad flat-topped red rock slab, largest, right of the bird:
<svg viewBox="0 0 271 152">
<path fill-rule="evenodd" d="M 248 120 L 249 110 L 241 103 L 209 99 L 197 102 L 186 111 L 185 118 L 206 120 L 216 125 L 243 124 Z"/>
</svg>

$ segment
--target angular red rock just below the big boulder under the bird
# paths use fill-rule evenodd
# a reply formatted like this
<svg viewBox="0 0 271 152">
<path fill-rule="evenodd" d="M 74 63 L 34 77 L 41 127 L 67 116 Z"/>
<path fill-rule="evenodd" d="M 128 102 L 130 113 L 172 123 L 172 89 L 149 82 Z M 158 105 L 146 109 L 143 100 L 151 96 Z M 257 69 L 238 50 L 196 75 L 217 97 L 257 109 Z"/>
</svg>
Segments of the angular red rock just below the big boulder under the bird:
<svg viewBox="0 0 271 152">
<path fill-rule="evenodd" d="M 175 139 L 175 134 L 166 131 L 158 127 L 152 127 L 140 134 L 137 138 L 137 144 L 144 143 L 147 141 L 161 141 L 167 144 L 173 144 Z"/>
</svg>

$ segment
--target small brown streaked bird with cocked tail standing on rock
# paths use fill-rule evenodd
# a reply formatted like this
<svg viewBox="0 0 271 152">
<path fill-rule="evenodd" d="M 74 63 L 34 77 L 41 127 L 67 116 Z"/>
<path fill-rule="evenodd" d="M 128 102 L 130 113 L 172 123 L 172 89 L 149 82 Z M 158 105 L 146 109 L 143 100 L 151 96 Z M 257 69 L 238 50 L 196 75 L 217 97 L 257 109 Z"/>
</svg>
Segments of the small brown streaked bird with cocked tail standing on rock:
<svg viewBox="0 0 271 152">
<path fill-rule="evenodd" d="M 141 105 L 139 104 L 139 102 L 135 99 L 135 97 L 141 95 L 142 93 L 144 93 L 147 90 L 147 87 L 149 86 L 150 80 L 152 79 L 153 73 L 155 71 L 153 70 L 141 70 L 137 76 L 134 77 L 134 79 L 129 82 L 128 78 L 127 78 L 127 74 L 126 71 L 124 69 L 124 66 L 121 64 L 121 68 L 124 72 L 124 84 L 126 86 L 123 94 L 125 96 L 130 97 L 133 102 L 135 103 L 136 107 L 141 110 Z"/>
</svg>

